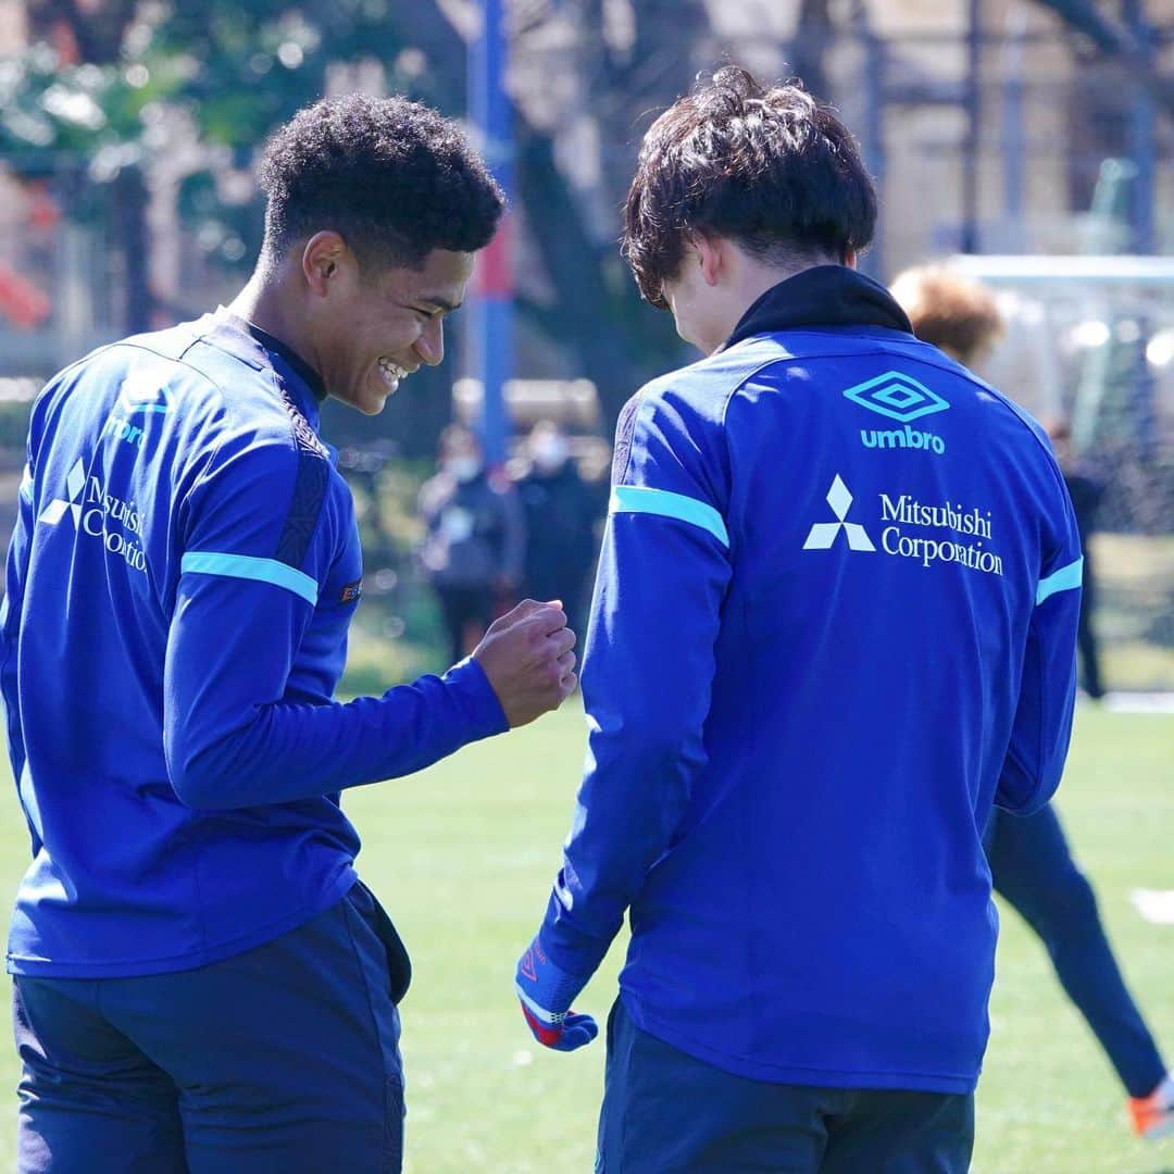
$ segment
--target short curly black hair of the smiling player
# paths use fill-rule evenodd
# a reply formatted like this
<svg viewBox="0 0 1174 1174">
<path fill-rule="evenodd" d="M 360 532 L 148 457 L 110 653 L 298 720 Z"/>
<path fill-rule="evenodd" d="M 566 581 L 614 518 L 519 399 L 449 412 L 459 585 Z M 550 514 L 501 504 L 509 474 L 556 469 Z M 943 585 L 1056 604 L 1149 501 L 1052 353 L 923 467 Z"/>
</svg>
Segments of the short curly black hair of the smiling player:
<svg viewBox="0 0 1174 1174">
<path fill-rule="evenodd" d="M 332 229 L 364 272 L 419 268 L 433 249 L 474 252 L 505 197 L 459 127 L 405 97 L 348 94 L 299 110 L 269 141 L 264 252 Z"/>
</svg>

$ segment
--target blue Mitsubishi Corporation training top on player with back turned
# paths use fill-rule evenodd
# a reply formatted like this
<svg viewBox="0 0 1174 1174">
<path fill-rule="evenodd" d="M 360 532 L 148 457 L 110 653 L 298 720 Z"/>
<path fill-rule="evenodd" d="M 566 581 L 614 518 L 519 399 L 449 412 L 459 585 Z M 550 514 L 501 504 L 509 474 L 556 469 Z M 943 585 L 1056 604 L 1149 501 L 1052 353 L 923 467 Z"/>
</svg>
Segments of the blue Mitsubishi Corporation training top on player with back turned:
<svg viewBox="0 0 1174 1174">
<path fill-rule="evenodd" d="M 646 386 L 616 439 L 591 730 L 540 931 L 630 908 L 639 1027 L 744 1077 L 969 1092 L 981 834 L 1060 777 L 1080 545 L 1039 426 L 841 266 Z"/>
</svg>

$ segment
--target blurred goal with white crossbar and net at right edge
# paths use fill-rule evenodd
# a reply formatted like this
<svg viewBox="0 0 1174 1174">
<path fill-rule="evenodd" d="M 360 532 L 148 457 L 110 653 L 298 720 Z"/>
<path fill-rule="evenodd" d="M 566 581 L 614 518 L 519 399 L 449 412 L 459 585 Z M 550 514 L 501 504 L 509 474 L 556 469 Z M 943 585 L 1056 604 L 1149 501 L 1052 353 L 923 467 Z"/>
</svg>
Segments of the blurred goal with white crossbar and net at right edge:
<svg viewBox="0 0 1174 1174">
<path fill-rule="evenodd" d="M 1094 629 L 1111 690 L 1174 689 L 1174 257 L 957 256 L 1006 332 L 979 373 L 1068 432 L 1102 487 Z"/>
</svg>

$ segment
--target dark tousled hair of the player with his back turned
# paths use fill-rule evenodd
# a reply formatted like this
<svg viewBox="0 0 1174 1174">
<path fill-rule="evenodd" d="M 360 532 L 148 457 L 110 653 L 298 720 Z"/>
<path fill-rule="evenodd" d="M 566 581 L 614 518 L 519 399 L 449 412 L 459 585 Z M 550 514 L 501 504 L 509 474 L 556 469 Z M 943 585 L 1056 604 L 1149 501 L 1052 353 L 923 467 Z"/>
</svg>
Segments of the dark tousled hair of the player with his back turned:
<svg viewBox="0 0 1174 1174">
<path fill-rule="evenodd" d="M 690 232 L 728 237 L 775 263 L 843 261 L 872 239 L 876 215 L 856 143 L 829 109 L 798 81 L 765 89 L 724 66 L 645 135 L 622 249 L 640 292 L 663 310 Z"/>
</svg>

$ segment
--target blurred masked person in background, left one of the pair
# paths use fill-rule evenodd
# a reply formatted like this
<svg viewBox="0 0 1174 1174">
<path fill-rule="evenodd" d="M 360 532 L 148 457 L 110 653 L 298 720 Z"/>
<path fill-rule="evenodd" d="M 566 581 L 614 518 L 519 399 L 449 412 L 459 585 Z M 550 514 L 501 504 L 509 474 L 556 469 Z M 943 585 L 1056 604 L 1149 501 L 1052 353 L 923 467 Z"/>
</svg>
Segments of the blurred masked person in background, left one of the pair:
<svg viewBox="0 0 1174 1174">
<path fill-rule="evenodd" d="M 440 603 L 450 655 L 459 660 L 517 591 L 526 529 L 517 492 L 486 468 L 470 429 L 450 424 L 444 430 L 438 464 L 420 490 L 420 562 Z"/>
</svg>

